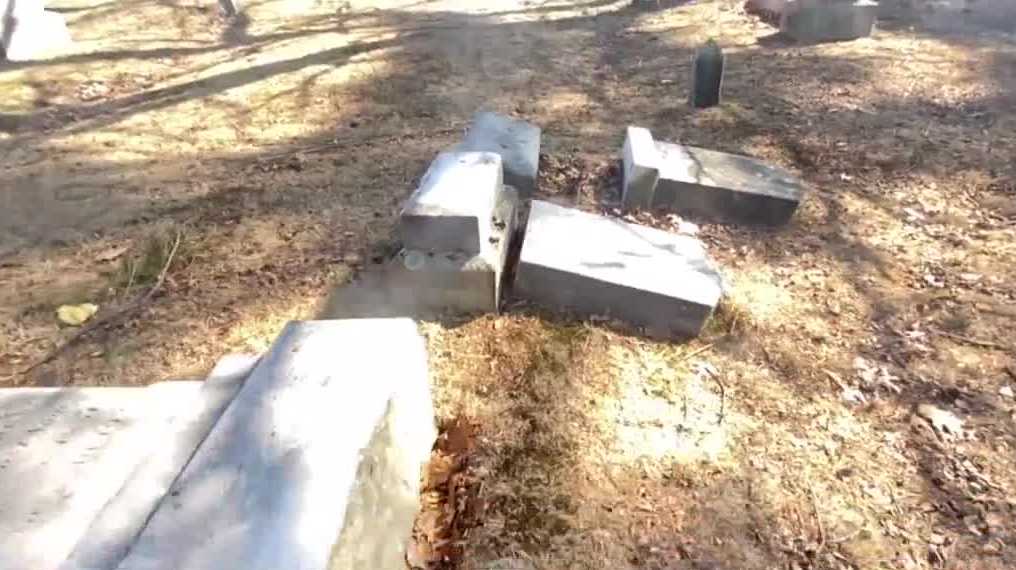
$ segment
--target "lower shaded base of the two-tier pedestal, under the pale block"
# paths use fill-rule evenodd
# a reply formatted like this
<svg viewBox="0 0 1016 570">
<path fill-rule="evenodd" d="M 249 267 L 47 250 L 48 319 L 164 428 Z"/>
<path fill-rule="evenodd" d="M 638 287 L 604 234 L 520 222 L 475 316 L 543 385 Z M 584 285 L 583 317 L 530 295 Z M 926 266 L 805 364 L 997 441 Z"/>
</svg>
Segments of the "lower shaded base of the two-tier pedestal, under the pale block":
<svg viewBox="0 0 1016 570">
<path fill-rule="evenodd" d="M 491 238 L 479 254 L 403 250 L 393 262 L 334 291 L 328 318 L 412 317 L 493 313 L 501 300 L 518 196 L 506 187 L 495 208 Z"/>
</svg>

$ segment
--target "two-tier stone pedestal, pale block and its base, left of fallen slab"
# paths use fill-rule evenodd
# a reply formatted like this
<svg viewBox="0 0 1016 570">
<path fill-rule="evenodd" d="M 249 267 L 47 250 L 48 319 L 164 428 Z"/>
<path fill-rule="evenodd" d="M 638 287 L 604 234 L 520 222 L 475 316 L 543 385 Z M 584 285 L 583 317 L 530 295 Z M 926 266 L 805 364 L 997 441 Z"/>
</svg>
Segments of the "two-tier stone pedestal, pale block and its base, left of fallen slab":
<svg viewBox="0 0 1016 570">
<path fill-rule="evenodd" d="M 380 282 L 371 291 L 336 292 L 329 312 L 496 312 L 518 201 L 515 189 L 502 182 L 498 154 L 439 154 L 402 209 L 404 250 L 397 263 L 373 279 Z M 375 308 L 365 303 L 370 298 L 379 302 Z"/>
</svg>

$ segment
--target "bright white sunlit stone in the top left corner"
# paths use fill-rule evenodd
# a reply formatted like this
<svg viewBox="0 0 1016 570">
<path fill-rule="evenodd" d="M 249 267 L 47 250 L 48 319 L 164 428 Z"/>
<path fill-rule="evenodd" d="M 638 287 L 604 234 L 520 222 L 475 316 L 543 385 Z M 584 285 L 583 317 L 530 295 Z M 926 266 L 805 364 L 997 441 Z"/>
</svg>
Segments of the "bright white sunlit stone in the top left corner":
<svg viewBox="0 0 1016 570">
<path fill-rule="evenodd" d="M 39 59 L 71 43 L 63 15 L 42 0 L 0 0 L 0 47 L 10 61 Z"/>
</svg>

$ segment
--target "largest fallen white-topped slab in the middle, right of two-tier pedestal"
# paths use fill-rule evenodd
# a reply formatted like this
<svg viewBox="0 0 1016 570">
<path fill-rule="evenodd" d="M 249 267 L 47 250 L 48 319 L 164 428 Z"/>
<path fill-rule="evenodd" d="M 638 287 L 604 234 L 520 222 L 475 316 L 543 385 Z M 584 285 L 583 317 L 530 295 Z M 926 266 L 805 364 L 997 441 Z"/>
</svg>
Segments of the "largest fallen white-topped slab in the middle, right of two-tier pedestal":
<svg viewBox="0 0 1016 570">
<path fill-rule="evenodd" d="M 698 240 L 538 200 L 516 271 L 523 299 L 655 335 L 698 334 L 721 295 Z"/>
</svg>

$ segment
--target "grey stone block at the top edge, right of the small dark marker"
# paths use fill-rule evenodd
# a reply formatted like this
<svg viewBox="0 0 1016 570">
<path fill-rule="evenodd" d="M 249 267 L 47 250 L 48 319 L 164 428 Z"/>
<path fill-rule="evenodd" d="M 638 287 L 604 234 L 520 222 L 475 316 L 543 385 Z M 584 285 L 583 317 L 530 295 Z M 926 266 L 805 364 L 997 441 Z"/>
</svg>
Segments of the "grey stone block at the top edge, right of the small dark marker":
<svg viewBox="0 0 1016 570">
<path fill-rule="evenodd" d="M 872 35 L 878 12 L 871 0 L 788 0 L 779 30 L 803 43 L 858 40 Z"/>
</svg>

